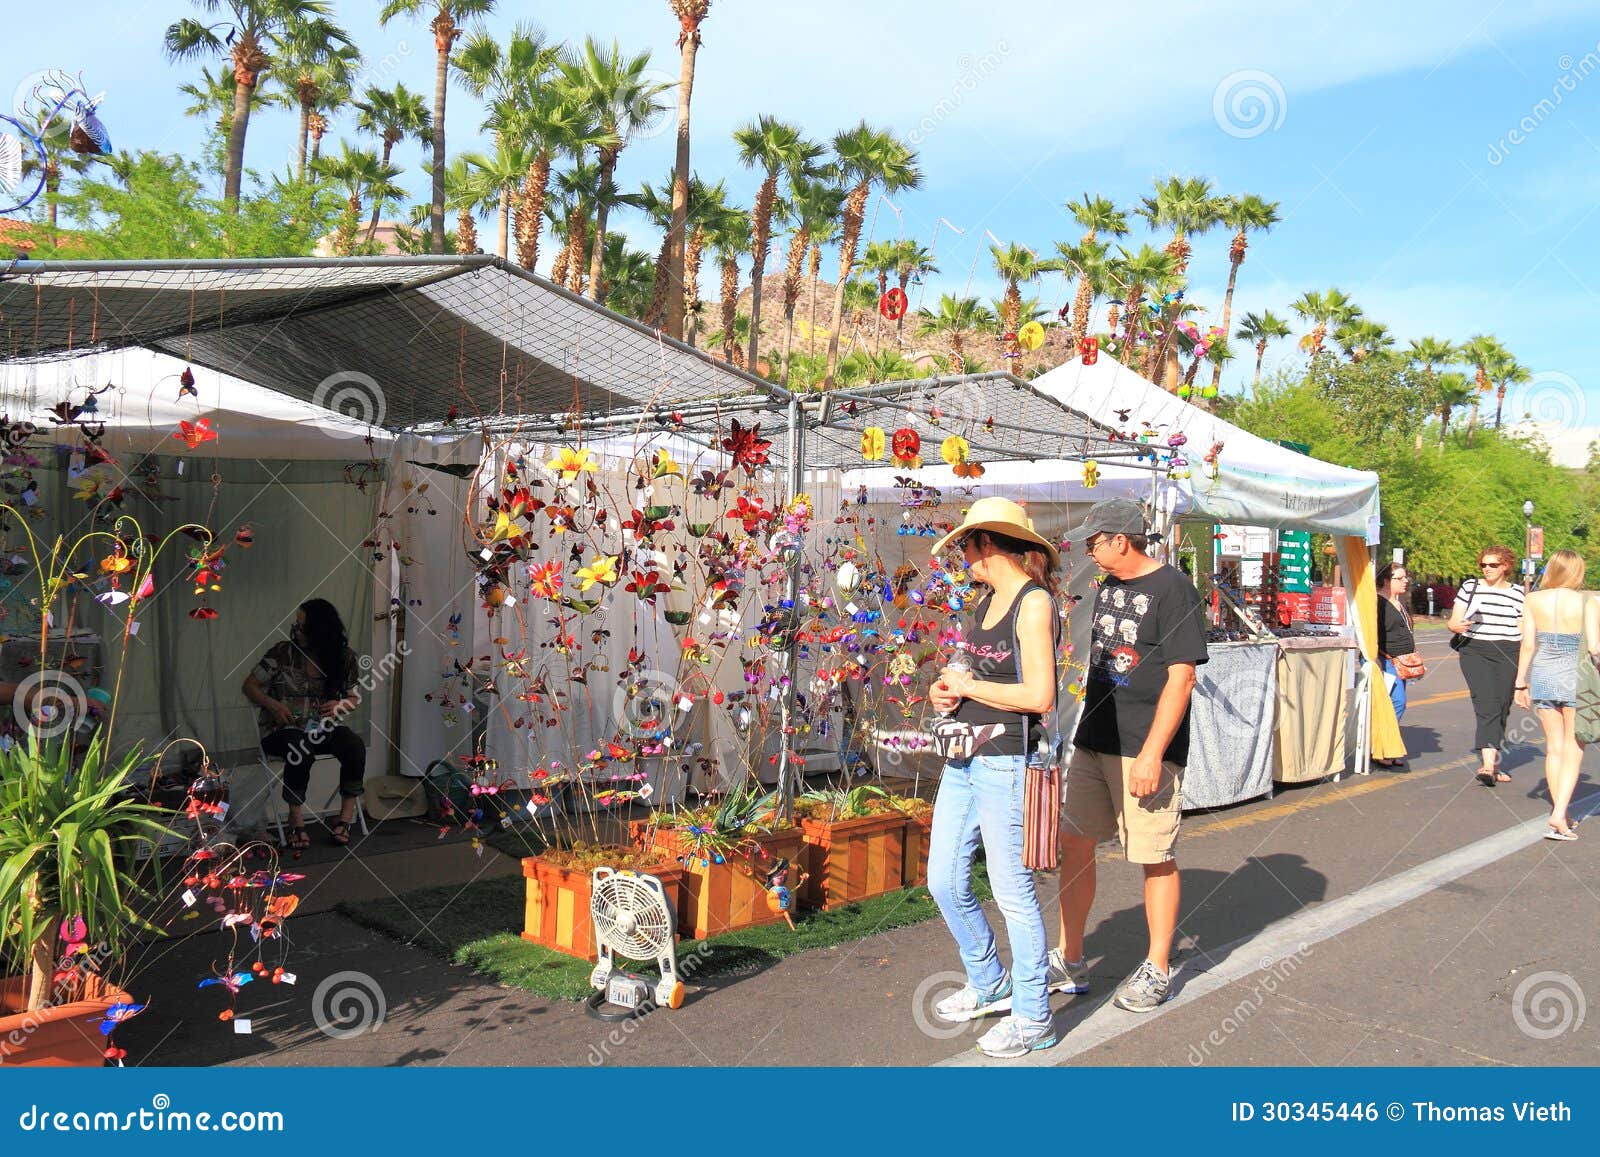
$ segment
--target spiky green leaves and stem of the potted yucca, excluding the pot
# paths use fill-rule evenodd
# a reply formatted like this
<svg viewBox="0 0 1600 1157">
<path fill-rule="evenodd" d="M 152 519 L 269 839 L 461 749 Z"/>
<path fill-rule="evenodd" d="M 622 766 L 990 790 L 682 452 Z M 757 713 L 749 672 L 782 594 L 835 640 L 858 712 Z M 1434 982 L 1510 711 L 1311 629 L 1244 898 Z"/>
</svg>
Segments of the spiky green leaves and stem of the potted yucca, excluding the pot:
<svg viewBox="0 0 1600 1157">
<path fill-rule="evenodd" d="M 158 808 L 126 792 L 139 762 L 138 747 L 112 757 L 104 736 L 78 754 L 70 731 L 0 751 L 0 962 L 27 968 L 29 1010 L 50 1003 L 61 976 L 64 920 L 83 922 L 102 975 L 131 931 L 154 928 L 139 911 L 152 891 L 134 851 L 165 829 Z"/>
</svg>

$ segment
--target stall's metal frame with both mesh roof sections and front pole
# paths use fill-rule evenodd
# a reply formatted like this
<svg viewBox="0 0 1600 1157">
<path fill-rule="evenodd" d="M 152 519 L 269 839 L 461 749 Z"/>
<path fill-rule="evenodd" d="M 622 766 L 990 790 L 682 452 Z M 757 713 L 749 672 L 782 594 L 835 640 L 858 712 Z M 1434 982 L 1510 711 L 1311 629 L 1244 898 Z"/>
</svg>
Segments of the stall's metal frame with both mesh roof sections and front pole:
<svg viewBox="0 0 1600 1157">
<path fill-rule="evenodd" d="M 720 448 L 738 414 L 782 413 L 771 461 L 787 493 L 806 469 L 861 461 L 861 429 L 909 427 L 936 458 L 950 435 L 978 461 L 1139 462 L 1150 451 L 1011 373 L 946 374 L 798 394 L 666 338 L 498 256 L 232 261 L 13 261 L 0 266 L 0 360 L 147 347 L 371 426 L 582 437 L 670 429 Z M 891 466 L 891 462 L 885 462 Z M 800 558 L 786 594 L 798 599 Z M 797 643 L 787 647 L 794 671 Z M 790 810 L 782 696 L 779 799 Z"/>
</svg>

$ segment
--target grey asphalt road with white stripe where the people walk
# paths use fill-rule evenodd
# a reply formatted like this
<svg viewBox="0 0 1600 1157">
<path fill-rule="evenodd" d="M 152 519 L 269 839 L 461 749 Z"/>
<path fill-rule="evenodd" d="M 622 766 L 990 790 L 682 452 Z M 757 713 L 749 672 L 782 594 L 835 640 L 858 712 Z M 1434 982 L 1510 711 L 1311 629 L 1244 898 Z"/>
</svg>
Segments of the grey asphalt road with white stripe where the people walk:
<svg viewBox="0 0 1600 1157">
<path fill-rule="evenodd" d="M 1142 959 L 1138 869 L 1107 851 L 1090 920 L 1093 991 L 1056 997 L 1061 1045 L 1029 1064 L 1600 1064 L 1600 823 L 1576 843 L 1539 839 L 1549 813 L 1533 720 L 1485 789 L 1472 711 L 1440 631 L 1402 733 L 1408 773 L 1282 791 L 1186 819 L 1174 999 L 1114 1008 Z M 1600 811 L 1594 771 L 1578 815 Z M 490 853 L 493 859 L 494 853 Z M 494 871 L 504 871 L 504 864 Z M 376 879 L 376 874 L 374 874 Z M 1042 891 L 1054 895 L 1053 882 Z M 998 917 L 992 915 L 998 923 Z M 1046 911 L 1046 922 L 1054 923 Z M 296 917 L 301 983 L 253 1008 L 237 1035 L 155 1007 L 125 1029 L 142 1064 L 968 1064 L 986 1027 L 928 1008 L 958 968 L 941 922 L 781 960 L 691 991 L 685 1008 L 629 1026 L 499 987 L 330 914 Z M 144 984 L 181 992 L 210 960 L 173 946 Z M 198 968 L 198 971 L 197 971 Z M 365 973 L 381 1027 L 333 1039 L 315 983 Z"/>
</svg>

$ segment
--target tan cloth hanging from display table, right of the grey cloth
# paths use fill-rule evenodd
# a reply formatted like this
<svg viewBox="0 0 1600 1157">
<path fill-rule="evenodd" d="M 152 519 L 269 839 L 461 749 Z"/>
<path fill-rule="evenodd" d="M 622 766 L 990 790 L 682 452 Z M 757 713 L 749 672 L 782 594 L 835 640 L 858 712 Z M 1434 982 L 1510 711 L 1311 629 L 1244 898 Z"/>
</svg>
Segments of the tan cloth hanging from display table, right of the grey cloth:
<svg viewBox="0 0 1600 1157">
<path fill-rule="evenodd" d="M 1278 640 L 1274 781 L 1296 784 L 1347 770 L 1352 650 L 1347 639 Z"/>
</svg>

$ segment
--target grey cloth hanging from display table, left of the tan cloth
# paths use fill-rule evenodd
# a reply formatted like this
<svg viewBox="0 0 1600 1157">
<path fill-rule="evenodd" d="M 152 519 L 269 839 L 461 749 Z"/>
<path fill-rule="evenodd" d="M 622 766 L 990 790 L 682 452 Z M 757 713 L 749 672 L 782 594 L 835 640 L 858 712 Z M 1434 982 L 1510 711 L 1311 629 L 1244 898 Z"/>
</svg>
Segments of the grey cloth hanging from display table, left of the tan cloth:
<svg viewBox="0 0 1600 1157">
<path fill-rule="evenodd" d="M 1272 794 L 1278 647 L 1213 643 L 1195 667 L 1184 810 Z"/>
</svg>

